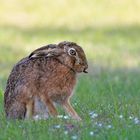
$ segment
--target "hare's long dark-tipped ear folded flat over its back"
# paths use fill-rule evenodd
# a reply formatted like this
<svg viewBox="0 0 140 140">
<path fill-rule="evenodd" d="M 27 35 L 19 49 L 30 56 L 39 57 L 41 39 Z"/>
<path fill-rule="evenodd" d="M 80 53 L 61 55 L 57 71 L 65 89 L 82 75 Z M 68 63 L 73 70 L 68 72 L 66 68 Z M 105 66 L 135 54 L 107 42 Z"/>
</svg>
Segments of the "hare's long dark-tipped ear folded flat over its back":
<svg viewBox="0 0 140 140">
<path fill-rule="evenodd" d="M 62 53 L 62 49 L 57 47 L 55 44 L 50 44 L 33 51 L 29 58 L 39 58 L 39 57 L 57 57 Z"/>
</svg>

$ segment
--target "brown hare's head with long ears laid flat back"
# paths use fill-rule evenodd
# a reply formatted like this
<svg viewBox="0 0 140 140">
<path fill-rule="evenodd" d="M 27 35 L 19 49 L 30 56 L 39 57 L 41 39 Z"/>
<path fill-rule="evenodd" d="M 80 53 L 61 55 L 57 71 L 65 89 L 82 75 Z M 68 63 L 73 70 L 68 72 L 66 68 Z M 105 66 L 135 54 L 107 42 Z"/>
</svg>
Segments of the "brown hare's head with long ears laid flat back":
<svg viewBox="0 0 140 140">
<path fill-rule="evenodd" d="M 85 72 L 88 68 L 83 49 L 74 42 L 61 42 L 58 45 L 50 44 L 33 51 L 30 58 L 53 57 L 60 63 L 75 72 Z"/>
</svg>

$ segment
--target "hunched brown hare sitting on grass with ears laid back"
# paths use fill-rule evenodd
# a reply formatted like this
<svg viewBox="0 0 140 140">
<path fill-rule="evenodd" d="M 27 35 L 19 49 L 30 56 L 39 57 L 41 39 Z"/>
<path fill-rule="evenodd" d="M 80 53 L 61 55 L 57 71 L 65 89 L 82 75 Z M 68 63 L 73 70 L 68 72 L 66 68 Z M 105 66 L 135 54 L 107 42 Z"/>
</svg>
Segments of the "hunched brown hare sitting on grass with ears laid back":
<svg viewBox="0 0 140 140">
<path fill-rule="evenodd" d="M 28 119 L 37 104 L 44 104 L 51 116 L 57 116 L 54 103 L 76 120 L 81 120 L 70 104 L 77 73 L 87 73 L 83 49 L 74 42 L 50 44 L 33 51 L 12 69 L 4 94 L 9 119 Z M 38 102 L 38 103 L 37 103 Z M 36 104 L 36 105 L 35 105 Z"/>
</svg>

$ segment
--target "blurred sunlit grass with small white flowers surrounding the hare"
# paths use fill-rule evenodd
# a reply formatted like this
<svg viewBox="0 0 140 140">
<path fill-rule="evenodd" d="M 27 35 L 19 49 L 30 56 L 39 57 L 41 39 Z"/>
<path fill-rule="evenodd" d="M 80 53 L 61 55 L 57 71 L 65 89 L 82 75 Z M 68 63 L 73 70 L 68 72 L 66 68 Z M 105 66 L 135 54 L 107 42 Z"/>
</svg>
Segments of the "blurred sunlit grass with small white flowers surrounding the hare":
<svg viewBox="0 0 140 140">
<path fill-rule="evenodd" d="M 139 139 L 140 2 L 3 0 L 0 5 L 0 139 Z M 62 40 L 83 46 L 89 73 L 78 76 L 67 118 L 8 121 L 3 93 L 13 65 Z M 60 114 L 66 115 L 61 108 Z"/>
</svg>

